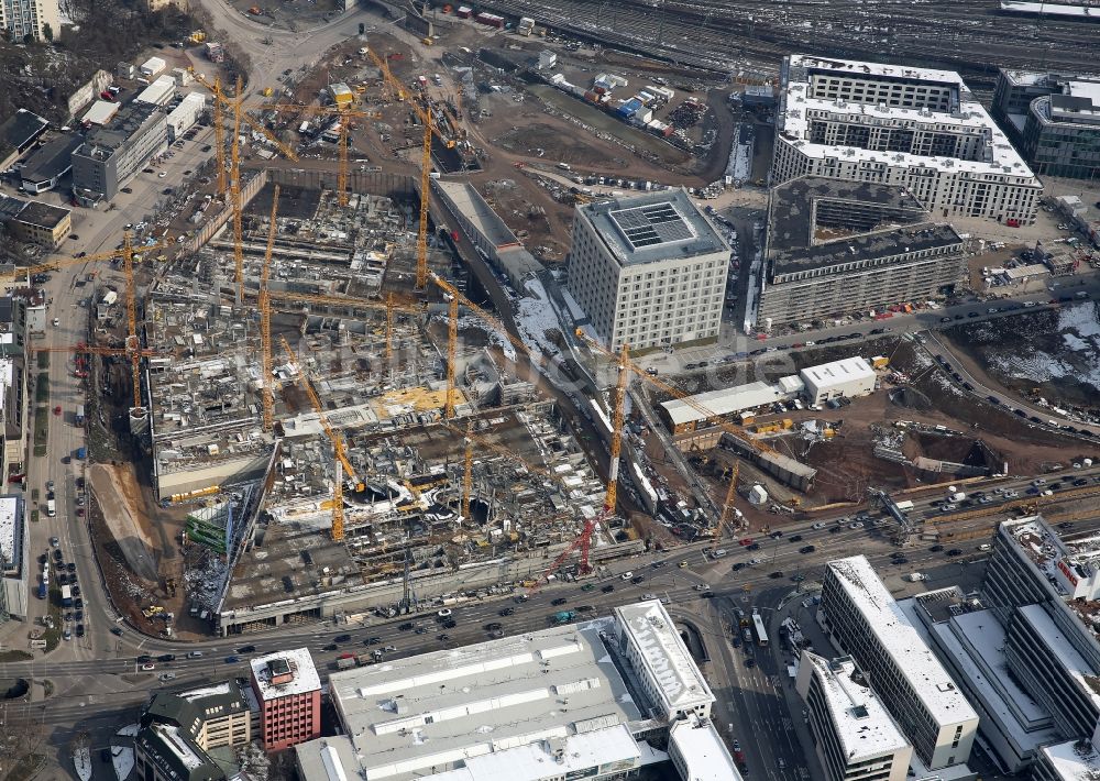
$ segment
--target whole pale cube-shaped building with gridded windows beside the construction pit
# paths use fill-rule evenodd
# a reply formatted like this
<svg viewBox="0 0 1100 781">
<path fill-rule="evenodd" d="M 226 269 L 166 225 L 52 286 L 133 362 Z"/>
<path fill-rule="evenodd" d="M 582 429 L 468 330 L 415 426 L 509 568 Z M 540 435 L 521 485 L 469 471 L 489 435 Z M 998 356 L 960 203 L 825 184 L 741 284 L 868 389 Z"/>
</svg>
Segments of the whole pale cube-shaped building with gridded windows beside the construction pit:
<svg viewBox="0 0 1100 781">
<path fill-rule="evenodd" d="M 729 245 L 684 190 L 576 208 L 569 290 L 607 346 L 718 337 Z"/>
</svg>

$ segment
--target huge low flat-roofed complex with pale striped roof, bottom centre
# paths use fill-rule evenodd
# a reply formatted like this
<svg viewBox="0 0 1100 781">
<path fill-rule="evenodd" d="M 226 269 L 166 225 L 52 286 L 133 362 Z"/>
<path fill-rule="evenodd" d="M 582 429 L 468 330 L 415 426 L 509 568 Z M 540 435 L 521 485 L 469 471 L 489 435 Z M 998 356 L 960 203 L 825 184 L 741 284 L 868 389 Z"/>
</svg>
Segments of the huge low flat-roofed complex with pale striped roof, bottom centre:
<svg viewBox="0 0 1100 781">
<path fill-rule="evenodd" d="M 714 695 L 658 601 L 337 672 L 329 692 L 342 734 L 296 748 L 304 781 L 600 781 L 670 754 L 684 779 L 740 781 L 708 718 Z"/>
</svg>

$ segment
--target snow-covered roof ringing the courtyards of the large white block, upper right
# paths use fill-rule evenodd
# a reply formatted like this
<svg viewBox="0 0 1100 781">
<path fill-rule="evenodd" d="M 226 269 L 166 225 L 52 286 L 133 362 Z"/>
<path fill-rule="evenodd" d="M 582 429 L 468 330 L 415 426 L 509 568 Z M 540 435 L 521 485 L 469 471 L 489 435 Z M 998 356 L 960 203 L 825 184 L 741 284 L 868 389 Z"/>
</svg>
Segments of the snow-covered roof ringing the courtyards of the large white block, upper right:
<svg viewBox="0 0 1100 781">
<path fill-rule="evenodd" d="M 914 68 L 882 63 L 864 63 L 795 54 L 789 57 L 790 77 L 784 85 L 782 117 L 777 123 L 782 135 L 798 146 L 799 152 L 809 157 L 833 157 L 844 161 L 876 162 L 906 168 L 933 168 L 950 173 L 991 174 L 998 176 L 1034 179 L 1034 174 L 1024 163 L 1020 153 L 1009 142 L 1008 136 L 993 122 L 986 109 L 978 102 L 963 78 L 953 70 Z M 811 97 L 810 72 L 836 72 L 862 78 L 905 79 L 925 81 L 953 88 L 957 102 L 950 111 L 935 111 L 927 108 L 901 108 L 881 103 L 861 103 L 835 98 Z M 891 125 L 926 127 L 931 132 L 957 129 L 985 136 L 985 154 L 981 160 L 963 160 L 947 156 L 916 155 L 908 152 L 867 150 L 857 146 L 822 144 L 812 142 L 812 119 L 823 117 L 857 118 L 860 122 L 869 119 L 881 120 Z M 1036 186 L 1038 186 L 1036 182 Z"/>
</svg>

